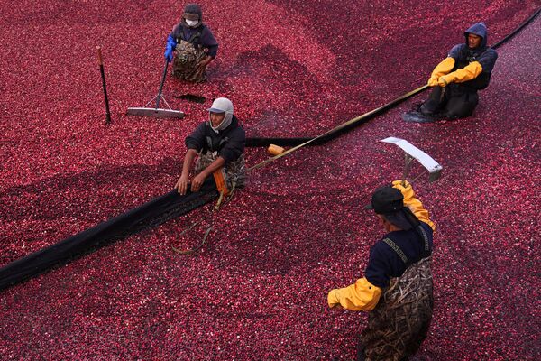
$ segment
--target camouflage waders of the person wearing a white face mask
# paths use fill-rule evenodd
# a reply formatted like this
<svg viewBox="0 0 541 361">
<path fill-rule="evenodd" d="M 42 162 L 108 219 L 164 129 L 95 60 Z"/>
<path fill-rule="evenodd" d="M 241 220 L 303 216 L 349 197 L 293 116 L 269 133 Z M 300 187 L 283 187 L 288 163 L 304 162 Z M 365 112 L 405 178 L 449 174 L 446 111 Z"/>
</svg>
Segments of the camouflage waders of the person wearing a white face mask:
<svg viewBox="0 0 541 361">
<path fill-rule="evenodd" d="M 173 60 L 173 76 L 182 80 L 199 83 L 206 79 L 206 69 L 197 71 L 197 64 L 205 59 L 206 52 L 194 42 L 201 34 L 196 32 L 188 41 L 177 39 L 176 55 Z"/>
</svg>

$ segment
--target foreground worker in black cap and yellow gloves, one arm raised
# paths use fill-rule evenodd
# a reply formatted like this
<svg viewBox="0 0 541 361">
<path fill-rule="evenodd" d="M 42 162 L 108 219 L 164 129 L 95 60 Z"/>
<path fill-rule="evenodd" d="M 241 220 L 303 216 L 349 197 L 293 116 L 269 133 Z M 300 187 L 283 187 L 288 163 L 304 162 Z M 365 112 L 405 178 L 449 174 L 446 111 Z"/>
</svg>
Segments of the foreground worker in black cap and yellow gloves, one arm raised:
<svg viewBox="0 0 541 361">
<path fill-rule="evenodd" d="M 408 182 L 376 190 L 371 208 L 388 232 L 371 247 L 364 277 L 332 290 L 333 309 L 369 312 L 358 360 L 406 360 L 415 355 L 432 319 L 432 235 L 435 225 Z"/>
</svg>

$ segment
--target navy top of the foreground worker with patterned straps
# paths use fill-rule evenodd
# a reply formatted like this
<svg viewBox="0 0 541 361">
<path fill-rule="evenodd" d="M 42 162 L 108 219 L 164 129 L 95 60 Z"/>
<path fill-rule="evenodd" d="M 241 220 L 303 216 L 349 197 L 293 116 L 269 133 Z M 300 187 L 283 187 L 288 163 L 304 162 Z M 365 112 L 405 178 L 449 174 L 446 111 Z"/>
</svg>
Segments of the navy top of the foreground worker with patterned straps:
<svg viewBox="0 0 541 361">
<path fill-rule="evenodd" d="M 388 233 L 371 247 L 368 265 L 364 271 L 368 282 L 385 288 L 389 286 L 390 277 L 401 276 L 411 264 L 416 264 L 432 253 L 432 228 L 425 222 L 420 222 L 420 224 L 425 231 L 428 251 L 426 251 L 425 240 L 413 228 Z M 385 238 L 389 238 L 395 245 L 398 245 L 406 260 L 402 259 L 397 251 L 384 242 Z"/>
</svg>

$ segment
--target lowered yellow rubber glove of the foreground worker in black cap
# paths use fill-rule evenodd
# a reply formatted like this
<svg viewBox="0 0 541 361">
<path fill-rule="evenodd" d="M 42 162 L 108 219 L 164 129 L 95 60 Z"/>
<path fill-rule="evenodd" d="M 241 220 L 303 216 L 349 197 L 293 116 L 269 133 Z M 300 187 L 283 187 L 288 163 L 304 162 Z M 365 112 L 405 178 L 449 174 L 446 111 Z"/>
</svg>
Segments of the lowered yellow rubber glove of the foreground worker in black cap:
<svg viewBox="0 0 541 361">
<path fill-rule="evenodd" d="M 331 290 L 327 295 L 327 303 L 332 309 L 342 306 L 347 310 L 373 310 L 380 301 L 381 288 L 374 286 L 365 277 L 353 284 Z"/>
</svg>

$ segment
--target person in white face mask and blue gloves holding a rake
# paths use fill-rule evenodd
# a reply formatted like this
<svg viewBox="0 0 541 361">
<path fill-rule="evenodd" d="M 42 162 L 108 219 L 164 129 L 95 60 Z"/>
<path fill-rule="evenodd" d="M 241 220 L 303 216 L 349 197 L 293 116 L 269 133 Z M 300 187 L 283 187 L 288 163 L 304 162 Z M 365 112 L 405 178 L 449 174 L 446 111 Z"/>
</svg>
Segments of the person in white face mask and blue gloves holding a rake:
<svg viewBox="0 0 541 361">
<path fill-rule="evenodd" d="M 218 42 L 203 23 L 201 6 L 186 5 L 182 20 L 173 27 L 165 47 L 165 59 L 169 62 L 174 59 L 173 76 L 194 83 L 205 81 L 206 67 L 217 51 Z"/>
</svg>

